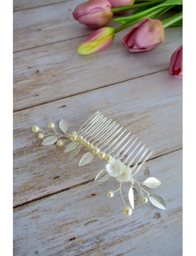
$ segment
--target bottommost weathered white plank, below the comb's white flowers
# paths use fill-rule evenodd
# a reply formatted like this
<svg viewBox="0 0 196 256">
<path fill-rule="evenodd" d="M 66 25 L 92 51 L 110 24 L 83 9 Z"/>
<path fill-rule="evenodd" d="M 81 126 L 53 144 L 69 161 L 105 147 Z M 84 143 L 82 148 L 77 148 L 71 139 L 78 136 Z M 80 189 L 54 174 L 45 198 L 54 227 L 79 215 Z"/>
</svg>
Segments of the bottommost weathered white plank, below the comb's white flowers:
<svg viewBox="0 0 196 256">
<path fill-rule="evenodd" d="M 14 209 L 13 254 L 182 255 L 182 150 L 151 160 L 146 167 L 162 182 L 160 188 L 147 190 L 165 199 L 166 210 L 140 201 L 127 218 L 120 194 L 107 197 L 108 190 L 119 186 L 115 178 L 89 182 Z M 79 169 L 72 171 L 80 175 Z M 146 179 L 143 171 L 138 176 Z M 128 189 L 123 184 L 127 205 Z"/>
</svg>

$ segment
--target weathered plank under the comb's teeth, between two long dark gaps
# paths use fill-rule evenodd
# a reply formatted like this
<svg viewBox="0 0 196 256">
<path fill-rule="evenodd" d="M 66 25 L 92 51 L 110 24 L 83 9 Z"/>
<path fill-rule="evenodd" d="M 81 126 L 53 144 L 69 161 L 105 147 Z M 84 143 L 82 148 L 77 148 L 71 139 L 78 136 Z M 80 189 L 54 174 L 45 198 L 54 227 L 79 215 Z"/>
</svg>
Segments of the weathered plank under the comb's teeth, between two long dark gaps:
<svg viewBox="0 0 196 256">
<path fill-rule="evenodd" d="M 62 148 L 41 146 L 30 130 L 34 124 L 47 129 L 49 122 L 58 125 L 64 118 L 69 132 L 77 131 L 98 110 L 137 134 L 154 150 L 152 157 L 182 147 L 182 81 L 167 70 L 15 112 L 14 205 L 95 178 L 102 160 L 79 167 L 81 152 L 87 151 L 70 161 Z"/>
</svg>

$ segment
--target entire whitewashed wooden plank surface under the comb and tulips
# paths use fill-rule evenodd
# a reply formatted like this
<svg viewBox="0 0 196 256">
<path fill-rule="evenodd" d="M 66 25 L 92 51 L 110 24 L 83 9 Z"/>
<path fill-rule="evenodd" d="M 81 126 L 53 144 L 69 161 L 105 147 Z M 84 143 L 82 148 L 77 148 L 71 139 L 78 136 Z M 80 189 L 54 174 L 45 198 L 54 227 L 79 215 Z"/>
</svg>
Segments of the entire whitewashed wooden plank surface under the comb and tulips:
<svg viewBox="0 0 196 256">
<path fill-rule="evenodd" d="M 82 56 L 76 49 L 92 30 L 72 18 L 81 2 L 13 2 L 13 254 L 182 255 L 182 80 L 168 75 L 182 27 L 167 28 L 150 52 L 128 52 L 125 31 L 106 50 Z M 41 146 L 30 131 L 62 118 L 74 131 L 95 111 L 154 150 L 138 180 L 161 180 L 156 193 L 166 210 L 140 202 L 125 218 L 120 195 L 106 195 L 118 182 L 94 182 L 103 161 L 78 167 L 85 150 L 69 161 L 62 148 Z"/>
</svg>

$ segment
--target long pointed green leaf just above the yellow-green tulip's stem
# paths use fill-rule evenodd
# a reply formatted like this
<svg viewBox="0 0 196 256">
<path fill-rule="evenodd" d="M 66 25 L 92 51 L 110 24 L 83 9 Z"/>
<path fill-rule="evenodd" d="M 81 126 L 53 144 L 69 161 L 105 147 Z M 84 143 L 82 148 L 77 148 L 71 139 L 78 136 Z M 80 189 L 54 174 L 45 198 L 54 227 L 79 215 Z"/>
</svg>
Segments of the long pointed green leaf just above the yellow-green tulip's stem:
<svg viewBox="0 0 196 256">
<path fill-rule="evenodd" d="M 183 4 L 183 0 L 167 0 L 167 1 L 165 1 L 164 3 L 161 3 L 161 4 L 159 4 L 159 5 L 156 5 L 156 6 L 154 6 L 154 7 L 151 7 L 151 8 L 149 8 L 149 9 L 147 9 L 147 10 L 144 10 L 144 11 L 141 11 L 141 12 L 139 12 L 139 13 L 136 13 L 135 15 L 132 15 L 132 16 L 129 16 L 129 17 L 124 17 L 124 18 L 118 18 L 118 19 L 115 19 L 115 20 L 113 20 L 113 21 L 115 21 L 115 22 L 119 22 L 119 23 L 121 23 L 121 24 L 125 24 L 125 23 L 127 23 L 127 22 L 129 22 L 129 21 L 134 21 L 134 20 L 138 20 L 138 19 L 141 19 L 142 20 L 142 17 L 143 16 L 148 16 L 148 15 L 150 15 L 151 13 L 153 13 L 153 11 L 155 10 L 155 9 L 157 9 L 157 8 L 160 8 L 160 7 L 164 7 L 164 6 L 172 6 L 172 5 L 182 5 Z M 160 8 L 161 9 L 161 8 Z M 162 14 L 162 13 L 161 13 Z M 160 14 L 160 15 L 161 15 Z M 160 16 L 159 15 L 159 16 Z M 151 19 L 156 19 L 157 17 L 159 17 L 159 16 L 156 16 L 155 18 L 154 17 L 151 17 Z"/>
</svg>

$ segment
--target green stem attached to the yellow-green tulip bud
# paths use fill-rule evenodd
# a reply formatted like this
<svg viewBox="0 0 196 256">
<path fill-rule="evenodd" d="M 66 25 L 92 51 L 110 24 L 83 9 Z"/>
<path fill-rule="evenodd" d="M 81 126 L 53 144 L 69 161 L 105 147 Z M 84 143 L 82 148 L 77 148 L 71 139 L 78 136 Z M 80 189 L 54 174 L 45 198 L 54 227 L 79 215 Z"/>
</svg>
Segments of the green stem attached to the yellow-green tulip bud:
<svg viewBox="0 0 196 256">
<path fill-rule="evenodd" d="M 118 33 L 121 30 L 124 30 L 127 27 L 129 27 L 129 26 L 135 26 L 138 22 L 140 22 L 140 21 L 142 21 L 142 20 L 144 20 L 146 18 L 151 18 L 152 16 L 155 16 L 156 14 L 158 15 L 160 12 L 161 12 L 161 15 L 162 15 L 162 13 L 164 13 L 165 11 L 170 9 L 171 7 L 173 7 L 173 5 L 171 5 L 171 6 L 163 6 L 163 7 L 157 8 L 157 9 L 153 10 L 151 13 L 147 13 L 146 15 L 143 15 L 143 16 L 139 17 L 138 19 L 133 19 L 133 20 L 131 20 L 129 22 L 126 22 L 122 26 L 117 27 L 117 29 L 114 32 Z M 160 15 L 158 15 L 158 16 L 160 16 Z"/>
</svg>

